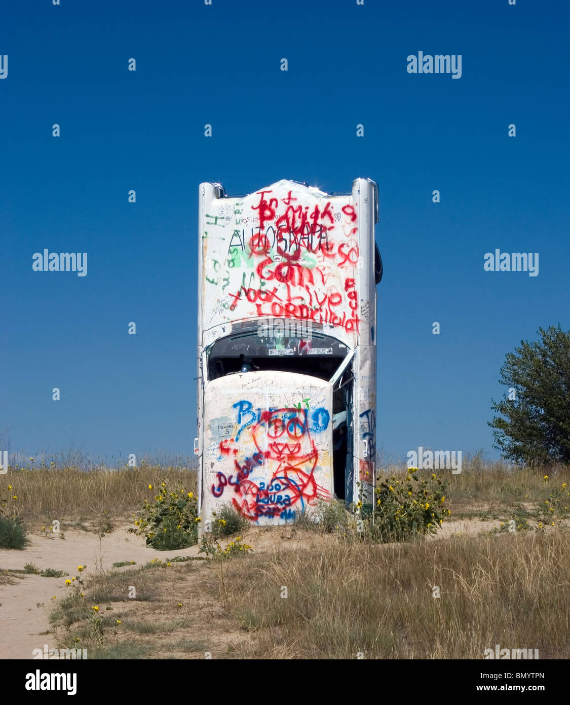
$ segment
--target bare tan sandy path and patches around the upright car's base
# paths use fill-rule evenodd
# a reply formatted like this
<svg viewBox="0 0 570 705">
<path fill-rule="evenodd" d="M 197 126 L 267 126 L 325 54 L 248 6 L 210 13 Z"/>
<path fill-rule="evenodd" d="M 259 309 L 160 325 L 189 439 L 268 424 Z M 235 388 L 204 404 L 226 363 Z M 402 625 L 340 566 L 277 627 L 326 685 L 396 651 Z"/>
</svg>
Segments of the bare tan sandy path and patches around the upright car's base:
<svg viewBox="0 0 570 705">
<path fill-rule="evenodd" d="M 439 535 L 478 534 L 496 525 L 473 519 L 446 522 Z M 166 562 L 173 556 L 198 555 L 198 546 L 157 553 L 145 546 L 142 537 L 129 534 L 127 528 L 118 527 L 103 538 L 76 530 L 66 530 L 65 539 L 30 534 L 30 543 L 23 551 L 0 549 L 0 570 L 23 570 L 26 563 L 33 563 L 41 570 L 63 570 L 73 577 L 78 575 L 78 565 L 87 565 L 84 575 L 89 577 L 120 561 L 135 560 L 142 565 L 157 556 Z M 243 539 L 254 546 L 256 553 L 263 553 L 278 546 L 289 550 L 317 547 L 330 537 L 295 532 L 290 527 L 254 527 L 244 532 Z M 55 646 L 49 633 L 49 611 L 54 601 L 66 596 L 65 581 L 66 577 L 13 574 L 10 582 L 0 584 L 0 658 L 33 658 L 33 649 L 43 649 L 44 644 Z"/>
</svg>

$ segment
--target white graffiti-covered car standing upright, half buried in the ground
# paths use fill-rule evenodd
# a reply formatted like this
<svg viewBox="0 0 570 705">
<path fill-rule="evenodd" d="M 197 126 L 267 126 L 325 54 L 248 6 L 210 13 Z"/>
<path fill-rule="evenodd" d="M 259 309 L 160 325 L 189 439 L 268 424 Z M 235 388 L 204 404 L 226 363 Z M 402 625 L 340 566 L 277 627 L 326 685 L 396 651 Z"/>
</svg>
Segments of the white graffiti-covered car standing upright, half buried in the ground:
<svg viewBox="0 0 570 705">
<path fill-rule="evenodd" d="M 202 530 L 232 506 L 283 524 L 371 498 L 378 186 L 281 180 L 199 190 L 197 439 Z"/>
</svg>

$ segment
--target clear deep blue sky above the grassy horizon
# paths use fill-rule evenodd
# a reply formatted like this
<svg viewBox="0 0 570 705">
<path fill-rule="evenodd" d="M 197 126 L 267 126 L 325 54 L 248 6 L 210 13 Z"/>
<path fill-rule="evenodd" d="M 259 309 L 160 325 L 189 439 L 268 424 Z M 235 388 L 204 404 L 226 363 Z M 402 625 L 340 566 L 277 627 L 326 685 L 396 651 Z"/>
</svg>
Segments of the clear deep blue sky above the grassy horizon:
<svg viewBox="0 0 570 705">
<path fill-rule="evenodd" d="M 369 176 L 385 272 L 377 446 L 496 456 L 487 421 L 505 353 L 538 326 L 570 328 L 569 15 L 522 0 L 4 5 L 11 451 L 191 454 L 199 183 L 349 191 Z M 461 78 L 407 73 L 418 51 L 461 54 Z M 87 276 L 32 271 L 44 248 L 87 252 Z M 538 276 L 483 271 L 495 248 L 539 252 Z"/>
</svg>

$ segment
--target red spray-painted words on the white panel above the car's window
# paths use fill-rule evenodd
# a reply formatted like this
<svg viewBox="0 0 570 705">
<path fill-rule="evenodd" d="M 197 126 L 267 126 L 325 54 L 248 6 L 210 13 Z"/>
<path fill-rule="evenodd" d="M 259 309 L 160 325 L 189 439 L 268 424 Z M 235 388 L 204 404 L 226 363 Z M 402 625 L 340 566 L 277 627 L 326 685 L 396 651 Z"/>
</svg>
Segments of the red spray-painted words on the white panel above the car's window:
<svg viewBox="0 0 570 705">
<path fill-rule="evenodd" d="M 247 255 L 244 261 L 254 267 L 250 286 L 246 285 L 244 275 L 239 290 L 226 292 L 230 303 L 225 306 L 234 312 L 247 302 L 255 307 L 247 315 L 309 320 L 358 332 L 354 278 L 345 279 L 344 291 L 328 284 L 333 277 L 339 286 L 341 271 L 352 273 L 358 264 L 359 243 L 353 237 L 358 231 L 354 206 L 343 206 L 344 220 L 337 213 L 335 221 L 330 201 L 324 206 L 309 207 L 297 204 L 291 191 L 279 200 L 271 189 L 258 191 L 257 195 L 259 202 L 252 210 L 256 212 L 259 227 L 256 232 L 252 228 L 249 241 L 245 232 L 243 239 L 238 238 L 244 256 Z M 342 228 L 342 233 L 338 233 L 340 238 L 333 236 L 335 228 Z M 234 242 L 235 235 L 231 240 Z M 249 264 L 252 259 L 254 262 Z M 253 287 L 251 280 L 255 276 L 259 277 L 259 283 Z M 347 286 L 347 282 L 352 285 Z M 275 286 L 267 286 L 272 283 Z"/>
</svg>

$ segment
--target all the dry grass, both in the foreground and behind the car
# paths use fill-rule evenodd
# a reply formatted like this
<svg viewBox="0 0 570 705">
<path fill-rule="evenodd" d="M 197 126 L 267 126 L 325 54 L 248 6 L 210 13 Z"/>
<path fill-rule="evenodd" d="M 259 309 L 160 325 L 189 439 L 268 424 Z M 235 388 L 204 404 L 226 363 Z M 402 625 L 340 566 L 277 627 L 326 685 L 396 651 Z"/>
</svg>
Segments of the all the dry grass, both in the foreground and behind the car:
<svg viewBox="0 0 570 705">
<path fill-rule="evenodd" d="M 18 470 L 0 489 L 8 477 L 32 532 L 56 518 L 70 532 L 101 517 L 125 527 L 149 484 L 166 477 L 196 487 L 195 472 L 180 467 Z M 470 659 L 495 644 L 569 658 L 569 525 L 539 525 L 535 510 L 569 481 L 564 467 L 475 458 L 450 477 L 452 514 L 438 537 L 373 544 L 301 522 L 247 529 L 253 555 L 230 560 L 200 560 L 197 546 L 184 562 L 144 548 L 147 561 L 128 565 L 125 555 L 123 567 L 101 563 L 81 577 L 83 596 L 58 600 L 49 630 L 89 658 Z M 490 532 L 512 517 L 526 517 L 529 529 Z M 469 531 L 454 530 L 459 519 Z M 65 551 L 66 541 L 56 544 Z"/>
</svg>

